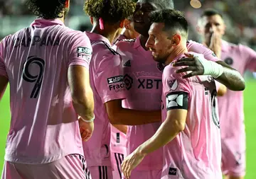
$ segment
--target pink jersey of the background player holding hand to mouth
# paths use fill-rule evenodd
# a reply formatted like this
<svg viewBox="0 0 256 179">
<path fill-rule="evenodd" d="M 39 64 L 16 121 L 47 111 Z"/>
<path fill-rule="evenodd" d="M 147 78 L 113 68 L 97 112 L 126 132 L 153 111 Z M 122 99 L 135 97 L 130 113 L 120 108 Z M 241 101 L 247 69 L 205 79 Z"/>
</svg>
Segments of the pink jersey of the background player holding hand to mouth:
<svg viewBox="0 0 256 179">
<path fill-rule="evenodd" d="M 222 41 L 221 59 L 240 74 L 246 70 L 256 71 L 256 52 L 244 45 Z M 218 97 L 220 107 L 221 137 L 228 139 L 242 134 L 245 137 L 242 91 L 230 91 Z M 244 149 L 245 150 L 245 149 Z"/>
</svg>

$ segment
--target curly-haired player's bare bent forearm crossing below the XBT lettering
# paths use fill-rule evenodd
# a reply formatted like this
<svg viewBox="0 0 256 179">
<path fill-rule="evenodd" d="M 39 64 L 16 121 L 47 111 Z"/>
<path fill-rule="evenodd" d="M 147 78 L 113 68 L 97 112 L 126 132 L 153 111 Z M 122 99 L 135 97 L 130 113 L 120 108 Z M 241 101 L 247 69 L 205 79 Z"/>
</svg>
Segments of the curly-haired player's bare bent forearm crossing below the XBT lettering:
<svg viewBox="0 0 256 179">
<path fill-rule="evenodd" d="M 112 125 L 145 125 L 161 121 L 161 110 L 145 111 L 122 108 L 122 100 L 105 103 L 107 115 Z"/>
</svg>

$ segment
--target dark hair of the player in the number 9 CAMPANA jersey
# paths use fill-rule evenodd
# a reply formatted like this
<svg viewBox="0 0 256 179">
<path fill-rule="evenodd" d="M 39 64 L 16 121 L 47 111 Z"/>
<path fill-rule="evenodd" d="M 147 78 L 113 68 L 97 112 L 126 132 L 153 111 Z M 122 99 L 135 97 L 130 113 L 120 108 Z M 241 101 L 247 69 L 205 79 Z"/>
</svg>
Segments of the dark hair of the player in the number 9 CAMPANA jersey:
<svg viewBox="0 0 256 179">
<path fill-rule="evenodd" d="M 28 9 L 39 18 L 62 18 L 65 11 L 65 0 L 27 0 Z"/>
</svg>

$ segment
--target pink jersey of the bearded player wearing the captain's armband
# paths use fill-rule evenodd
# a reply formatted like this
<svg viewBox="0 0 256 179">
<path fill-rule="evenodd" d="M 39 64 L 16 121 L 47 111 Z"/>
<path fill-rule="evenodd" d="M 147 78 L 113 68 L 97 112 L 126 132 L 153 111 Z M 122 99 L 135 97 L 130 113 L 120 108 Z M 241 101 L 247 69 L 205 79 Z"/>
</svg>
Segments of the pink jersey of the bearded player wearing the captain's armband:
<svg viewBox="0 0 256 179">
<path fill-rule="evenodd" d="M 215 82 L 211 76 L 182 79 L 176 69 L 172 64 L 164 68 L 162 121 L 168 110 L 184 109 L 188 115 L 183 132 L 164 146 L 162 178 L 222 178 Z"/>
</svg>

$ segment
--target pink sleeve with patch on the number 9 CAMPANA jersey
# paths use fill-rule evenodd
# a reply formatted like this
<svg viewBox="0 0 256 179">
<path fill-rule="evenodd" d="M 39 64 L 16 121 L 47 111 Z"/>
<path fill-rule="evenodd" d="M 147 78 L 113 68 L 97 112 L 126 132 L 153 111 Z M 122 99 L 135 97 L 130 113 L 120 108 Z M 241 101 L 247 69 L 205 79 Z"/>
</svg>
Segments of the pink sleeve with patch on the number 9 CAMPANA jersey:
<svg viewBox="0 0 256 179">
<path fill-rule="evenodd" d="M 78 33 L 74 38 L 73 45 L 70 45 L 69 50 L 69 66 L 81 65 L 89 69 L 90 59 L 92 58 L 90 40 L 85 33 Z"/>
</svg>

